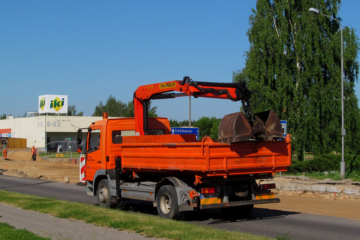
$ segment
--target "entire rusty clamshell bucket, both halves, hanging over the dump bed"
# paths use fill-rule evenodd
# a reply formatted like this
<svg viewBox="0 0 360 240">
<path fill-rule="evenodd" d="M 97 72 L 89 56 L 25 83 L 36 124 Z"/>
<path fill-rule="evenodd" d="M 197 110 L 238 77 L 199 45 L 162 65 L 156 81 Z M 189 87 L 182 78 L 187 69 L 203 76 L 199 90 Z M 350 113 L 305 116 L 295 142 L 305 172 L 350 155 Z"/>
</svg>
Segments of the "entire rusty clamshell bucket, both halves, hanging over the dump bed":
<svg viewBox="0 0 360 240">
<path fill-rule="evenodd" d="M 221 119 L 218 133 L 219 142 L 224 143 L 246 139 L 267 141 L 279 138 L 284 138 L 283 128 L 273 110 L 255 113 L 253 119 L 249 121 L 243 112 L 226 115 Z"/>
</svg>

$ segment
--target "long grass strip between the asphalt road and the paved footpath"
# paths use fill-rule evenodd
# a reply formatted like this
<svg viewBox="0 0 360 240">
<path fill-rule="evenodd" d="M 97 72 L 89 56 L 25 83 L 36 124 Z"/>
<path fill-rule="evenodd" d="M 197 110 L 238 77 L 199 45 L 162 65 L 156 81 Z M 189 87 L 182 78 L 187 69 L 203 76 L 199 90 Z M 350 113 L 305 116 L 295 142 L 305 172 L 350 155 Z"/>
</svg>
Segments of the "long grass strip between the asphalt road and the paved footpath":
<svg viewBox="0 0 360 240">
<path fill-rule="evenodd" d="M 132 214 L 121 210 L 101 208 L 84 203 L 73 203 L 54 198 L 41 198 L 34 195 L 13 193 L 5 190 L 0 190 L 0 202 L 13 204 L 23 209 L 49 213 L 59 218 L 73 218 L 100 226 L 134 231 L 148 237 L 164 237 L 175 240 L 271 239 L 265 236 L 197 226 L 186 222 L 163 219 L 157 216 Z"/>
</svg>

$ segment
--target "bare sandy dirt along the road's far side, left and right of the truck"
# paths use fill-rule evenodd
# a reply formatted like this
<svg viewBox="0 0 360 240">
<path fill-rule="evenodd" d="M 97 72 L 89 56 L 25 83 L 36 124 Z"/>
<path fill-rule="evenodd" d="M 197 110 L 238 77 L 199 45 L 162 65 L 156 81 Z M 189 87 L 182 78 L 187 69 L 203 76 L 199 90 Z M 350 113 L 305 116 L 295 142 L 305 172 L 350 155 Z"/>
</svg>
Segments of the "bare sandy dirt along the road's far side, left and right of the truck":
<svg viewBox="0 0 360 240">
<path fill-rule="evenodd" d="M 70 183 L 76 184 L 79 180 L 79 165 L 49 160 L 37 156 L 36 162 L 31 160 L 31 151 L 8 151 L 7 159 L 0 157 L 0 169 L 8 169 L 4 175 L 18 177 L 41 178 L 45 180 L 63 181 L 68 177 Z M 288 181 L 274 178 L 275 181 Z M 333 193 L 299 193 L 298 191 L 275 190 L 275 197 L 280 203 L 260 204 L 257 208 L 269 208 L 289 212 L 312 213 L 325 216 L 360 219 L 360 199 L 343 199 L 341 194 L 333 198 Z"/>
</svg>

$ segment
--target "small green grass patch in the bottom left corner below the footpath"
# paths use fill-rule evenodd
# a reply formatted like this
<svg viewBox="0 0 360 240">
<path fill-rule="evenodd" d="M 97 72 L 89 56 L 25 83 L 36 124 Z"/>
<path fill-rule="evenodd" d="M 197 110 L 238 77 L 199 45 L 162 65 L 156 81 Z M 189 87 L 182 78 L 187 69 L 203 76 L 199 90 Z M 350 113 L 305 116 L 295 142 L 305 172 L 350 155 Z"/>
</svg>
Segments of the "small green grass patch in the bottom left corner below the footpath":
<svg viewBox="0 0 360 240">
<path fill-rule="evenodd" d="M 26 240 L 51 240 L 48 237 L 40 237 L 33 232 L 30 232 L 23 229 L 15 229 L 15 227 L 0 222 L 0 239 L 6 240 L 19 240 L 19 239 L 26 239 Z"/>
</svg>

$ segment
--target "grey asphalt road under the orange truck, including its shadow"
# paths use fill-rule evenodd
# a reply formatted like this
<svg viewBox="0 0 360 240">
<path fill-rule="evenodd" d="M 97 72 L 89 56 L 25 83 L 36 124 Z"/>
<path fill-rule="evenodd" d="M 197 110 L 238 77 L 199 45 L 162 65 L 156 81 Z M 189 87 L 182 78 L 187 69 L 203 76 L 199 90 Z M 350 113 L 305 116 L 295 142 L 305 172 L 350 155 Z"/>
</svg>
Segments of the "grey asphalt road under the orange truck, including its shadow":
<svg viewBox="0 0 360 240">
<path fill-rule="evenodd" d="M 87 196 L 84 186 L 75 184 L 0 175 L 0 189 L 97 204 L 96 198 Z M 152 206 L 152 203 L 140 201 L 127 201 L 123 203 L 122 209 L 156 214 L 156 208 Z M 360 239 L 360 221 L 358 220 L 264 208 L 254 208 L 245 218 L 231 219 L 224 216 L 220 210 L 188 212 L 182 221 L 269 237 L 288 234 L 292 240 Z"/>
</svg>

